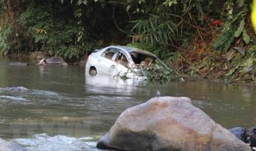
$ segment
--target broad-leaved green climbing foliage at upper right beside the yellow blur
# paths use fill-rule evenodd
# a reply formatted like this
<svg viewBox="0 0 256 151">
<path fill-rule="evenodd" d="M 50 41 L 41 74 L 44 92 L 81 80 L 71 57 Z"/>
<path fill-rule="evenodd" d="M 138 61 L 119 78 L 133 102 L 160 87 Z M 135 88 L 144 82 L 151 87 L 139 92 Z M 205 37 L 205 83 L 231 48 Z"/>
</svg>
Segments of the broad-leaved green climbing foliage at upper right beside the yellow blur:
<svg viewBox="0 0 256 151">
<path fill-rule="evenodd" d="M 250 44 L 251 37 L 246 33 L 246 22 L 249 13 L 249 5 L 251 2 L 245 2 L 244 0 L 227 1 L 225 3 L 225 11 L 223 18 L 227 18 L 227 21 L 221 27 L 218 33 L 218 38 L 214 43 L 214 50 L 221 50 L 226 52 L 236 39 L 243 39 L 246 45 Z M 234 9 L 236 7 L 236 9 Z"/>
</svg>

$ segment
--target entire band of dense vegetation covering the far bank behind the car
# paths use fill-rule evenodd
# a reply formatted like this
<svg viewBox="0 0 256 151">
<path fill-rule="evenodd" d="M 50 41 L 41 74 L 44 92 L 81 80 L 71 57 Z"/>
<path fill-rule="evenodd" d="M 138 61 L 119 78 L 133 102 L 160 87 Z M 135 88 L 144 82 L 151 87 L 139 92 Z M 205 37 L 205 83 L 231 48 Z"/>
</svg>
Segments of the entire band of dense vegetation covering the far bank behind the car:
<svg viewBox="0 0 256 151">
<path fill-rule="evenodd" d="M 0 0 L 1 54 L 79 58 L 110 44 L 150 50 L 175 71 L 254 81 L 246 0 Z"/>
</svg>

